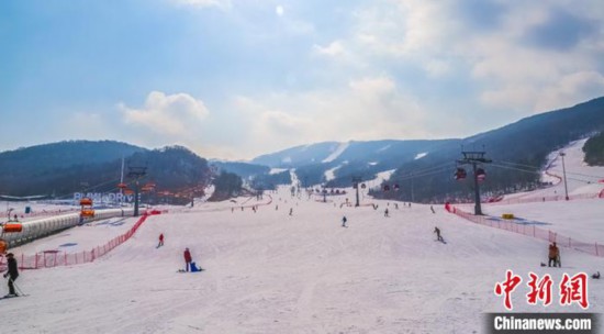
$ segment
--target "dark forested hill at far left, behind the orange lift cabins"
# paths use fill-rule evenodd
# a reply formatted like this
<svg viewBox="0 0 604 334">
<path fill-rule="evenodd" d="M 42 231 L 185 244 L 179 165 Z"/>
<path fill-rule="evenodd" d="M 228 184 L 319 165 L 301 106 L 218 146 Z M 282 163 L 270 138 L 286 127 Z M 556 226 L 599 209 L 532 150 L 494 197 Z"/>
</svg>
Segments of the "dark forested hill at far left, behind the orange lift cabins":
<svg viewBox="0 0 604 334">
<path fill-rule="evenodd" d="M 122 158 L 125 174 L 128 166 L 146 167 L 143 181 L 157 190 L 189 191 L 210 179 L 208 162 L 184 147 L 149 151 L 112 141 L 70 141 L 1 153 L 0 194 L 68 198 L 76 191 L 115 191 Z"/>
</svg>

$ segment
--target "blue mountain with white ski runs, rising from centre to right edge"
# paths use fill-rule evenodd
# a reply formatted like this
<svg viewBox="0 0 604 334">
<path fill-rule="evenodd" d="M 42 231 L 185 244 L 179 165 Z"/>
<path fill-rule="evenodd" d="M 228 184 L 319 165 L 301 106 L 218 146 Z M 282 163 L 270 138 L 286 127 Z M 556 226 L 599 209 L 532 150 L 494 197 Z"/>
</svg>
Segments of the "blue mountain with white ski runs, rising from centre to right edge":
<svg viewBox="0 0 604 334">
<path fill-rule="evenodd" d="M 501 192 L 507 188 L 537 187 L 548 154 L 602 131 L 604 98 L 599 98 L 466 138 L 325 142 L 262 155 L 251 163 L 295 168 L 303 186 L 346 187 L 353 177 L 370 180 L 379 172 L 395 169 L 391 182 L 406 185 L 396 198 L 429 201 L 461 192 L 459 185 L 451 182 L 451 176 L 462 151 L 484 151 L 486 158 L 496 163 L 482 166 L 489 174 L 484 188 Z M 510 164 L 523 166 L 514 169 Z"/>
</svg>

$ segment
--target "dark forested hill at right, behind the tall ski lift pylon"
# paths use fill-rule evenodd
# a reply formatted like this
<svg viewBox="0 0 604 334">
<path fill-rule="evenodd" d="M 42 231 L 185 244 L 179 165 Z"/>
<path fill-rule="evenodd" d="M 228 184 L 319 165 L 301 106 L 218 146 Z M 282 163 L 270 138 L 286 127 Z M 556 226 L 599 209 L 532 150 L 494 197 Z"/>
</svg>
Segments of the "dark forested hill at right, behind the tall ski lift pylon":
<svg viewBox="0 0 604 334">
<path fill-rule="evenodd" d="M 481 166 L 486 170 L 482 186 L 485 192 L 532 189 L 539 187 L 539 170 L 549 153 L 601 132 L 604 132 L 604 98 L 540 113 L 465 138 L 461 147 L 448 147 L 425 158 L 402 164 L 391 182 L 401 187 L 395 197 L 407 200 L 413 197 L 420 201 L 443 201 L 450 197 L 471 196 L 471 191 L 468 191 L 470 186 L 452 180 L 455 162 L 462 158 L 463 149 L 484 151 L 486 158 L 493 160 Z M 443 168 L 435 170 L 436 166 Z"/>
</svg>

